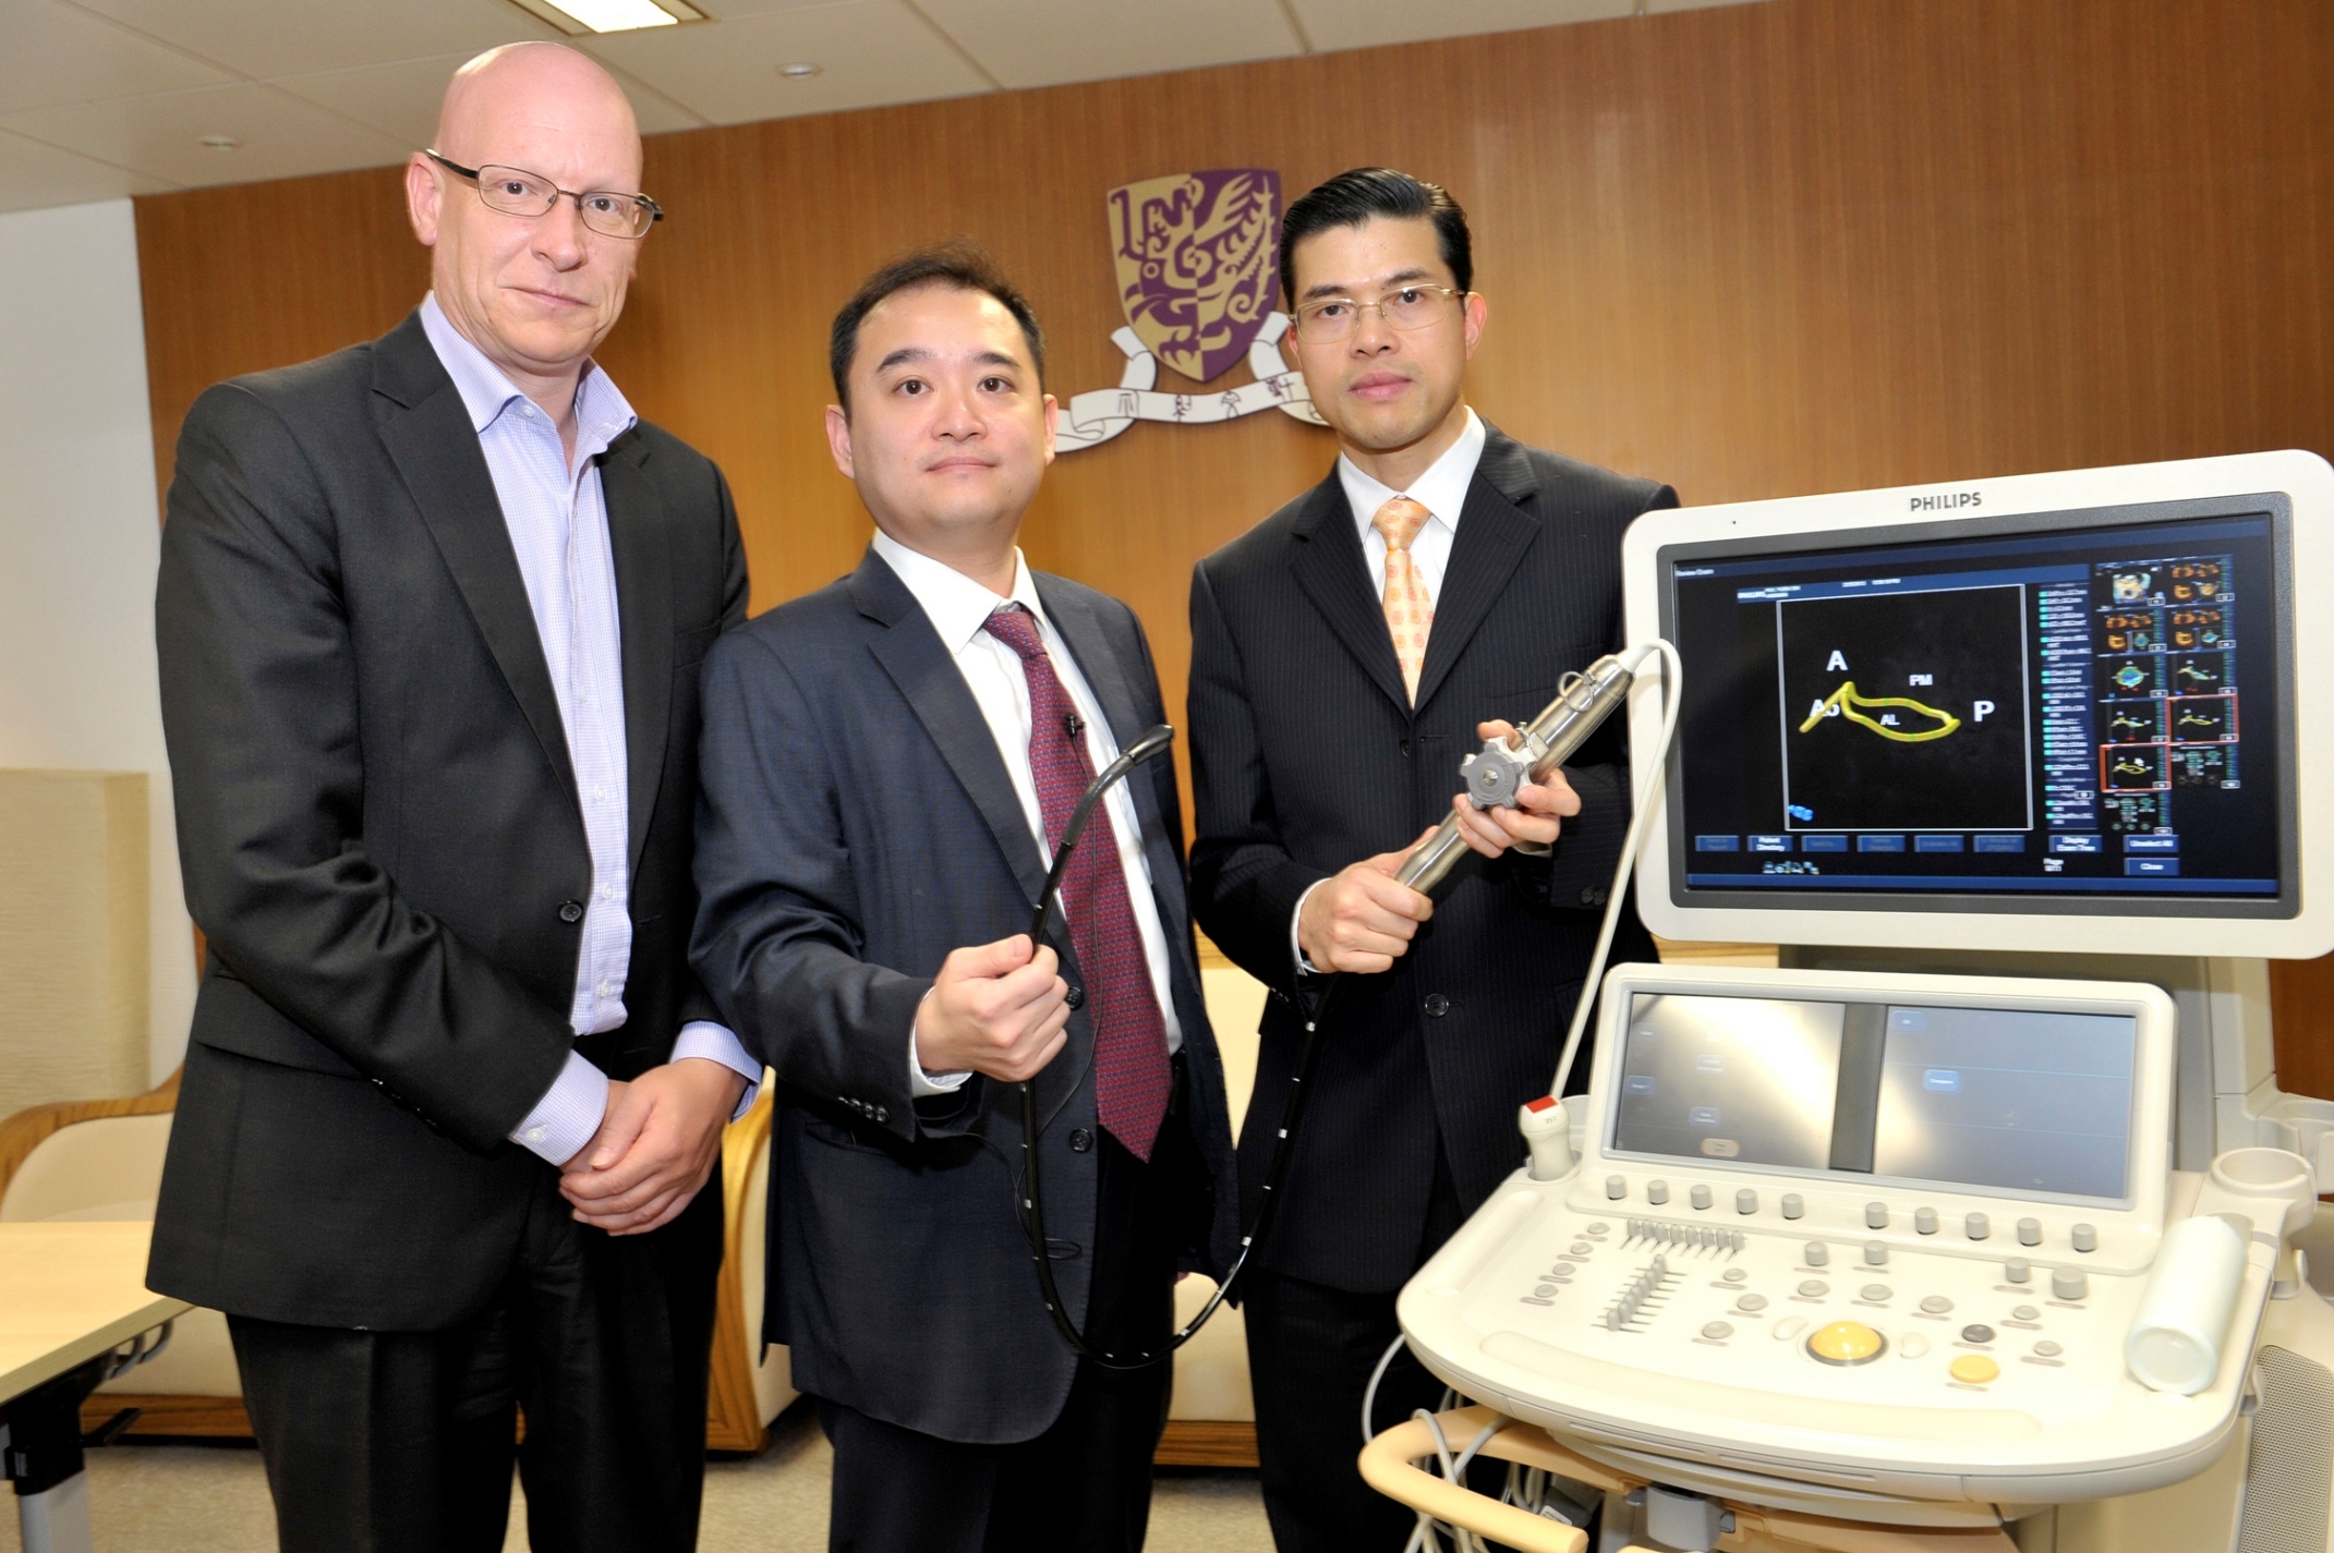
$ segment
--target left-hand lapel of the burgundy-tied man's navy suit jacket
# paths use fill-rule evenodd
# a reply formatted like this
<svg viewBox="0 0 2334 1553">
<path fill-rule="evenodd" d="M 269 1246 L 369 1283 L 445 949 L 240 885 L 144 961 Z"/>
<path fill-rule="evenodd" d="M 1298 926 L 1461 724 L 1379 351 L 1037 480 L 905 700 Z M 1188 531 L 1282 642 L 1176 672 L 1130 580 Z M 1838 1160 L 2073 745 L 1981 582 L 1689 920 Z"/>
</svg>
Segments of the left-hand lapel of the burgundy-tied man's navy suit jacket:
<svg viewBox="0 0 2334 1553">
<path fill-rule="evenodd" d="M 941 644 L 941 634 L 931 630 L 931 618 L 915 602 L 915 595 L 875 550 L 868 550 L 859 571 L 852 574 L 852 602 L 859 613 L 889 627 L 868 644 L 868 651 L 899 686 L 899 693 L 908 697 L 908 707 L 915 709 L 924 732 L 938 746 L 941 760 L 980 809 L 980 818 L 990 823 L 1013 877 L 1036 905 L 1036 893 L 1046 888 L 1046 858 L 1036 837 L 1029 835 L 1029 816 L 1013 793 L 1013 779 L 1006 776 L 997 737 L 990 732 L 987 718 L 980 716 L 973 693 L 964 688 L 957 660 Z"/>
</svg>

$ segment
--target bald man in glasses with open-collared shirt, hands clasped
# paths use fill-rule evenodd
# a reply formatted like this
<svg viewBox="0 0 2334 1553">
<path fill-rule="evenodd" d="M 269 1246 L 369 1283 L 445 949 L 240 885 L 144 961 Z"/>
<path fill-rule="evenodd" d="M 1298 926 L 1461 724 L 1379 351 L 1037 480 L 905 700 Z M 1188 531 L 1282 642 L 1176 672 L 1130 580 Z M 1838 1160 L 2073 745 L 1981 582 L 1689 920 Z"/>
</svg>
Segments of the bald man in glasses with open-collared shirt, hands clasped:
<svg viewBox="0 0 2334 1553">
<path fill-rule="evenodd" d="M 656 205 L 614 79 L 464 65 L 432 294 L 187 415 L 156 592 L 210 937 L 149 1280 L 229 1315 L 285 1548 L 693 1548 L 721 1126 L 689 972 L 721 473 L 591 361 Z M 584 191 L 584 194 L 569 194 Z M 565 1166 L 565 1175 L 562 1175 Z"/>
</svg>

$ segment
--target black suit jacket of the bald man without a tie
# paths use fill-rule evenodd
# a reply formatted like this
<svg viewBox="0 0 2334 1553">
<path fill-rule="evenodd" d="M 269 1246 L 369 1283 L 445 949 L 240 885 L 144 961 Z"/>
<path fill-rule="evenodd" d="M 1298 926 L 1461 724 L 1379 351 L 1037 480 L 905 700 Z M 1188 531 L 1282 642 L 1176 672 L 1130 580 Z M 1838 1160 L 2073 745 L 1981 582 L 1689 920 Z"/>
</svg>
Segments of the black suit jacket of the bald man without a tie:
<svg viewBox="0 0 2334 1553">
<path fill-rule="evenodd" d="M 623 627 L 628 1021 L 689 972 L 698 669 L 745 616 L 721 473 L 602 457 Z M 154 602 L 187 905 L 210 937 L 149 1280 L 238 1315 L 439 1329 L 511 1266 L 548 1164 L 506 1143 L 576 1045 L 591 851 L 478 434 L 420 317 L 205 392 Z"/>
</svg>

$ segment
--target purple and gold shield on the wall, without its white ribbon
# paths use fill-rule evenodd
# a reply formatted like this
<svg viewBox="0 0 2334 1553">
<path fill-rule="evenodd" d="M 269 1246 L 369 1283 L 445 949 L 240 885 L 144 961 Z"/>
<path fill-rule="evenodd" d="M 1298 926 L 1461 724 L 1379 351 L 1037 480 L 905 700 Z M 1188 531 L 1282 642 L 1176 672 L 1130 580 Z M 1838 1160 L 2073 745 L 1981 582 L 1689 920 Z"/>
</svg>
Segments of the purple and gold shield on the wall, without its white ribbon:
<svg viewBox="0 0 2334 1553">
<path fill-rule="evenodd" d="M 1272 315 L 1281 175 L 1211 168 L 1111 189 L 1111 238 L 1127 324 L 1160 361 L 1207 382 Z"/>
</svg>

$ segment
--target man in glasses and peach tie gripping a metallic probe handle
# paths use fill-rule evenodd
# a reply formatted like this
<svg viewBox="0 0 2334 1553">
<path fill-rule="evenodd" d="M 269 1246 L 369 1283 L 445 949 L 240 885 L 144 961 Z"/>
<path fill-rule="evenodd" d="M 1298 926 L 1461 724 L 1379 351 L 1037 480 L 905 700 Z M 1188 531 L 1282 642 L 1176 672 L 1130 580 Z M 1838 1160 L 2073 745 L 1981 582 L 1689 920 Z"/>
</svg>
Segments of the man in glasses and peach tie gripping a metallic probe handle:
<svg viewBox="0 0 2334 1553">
<path fill-rule="evenodd" d="M 1193 574 L 1193 912 L 1272 989 L 1251 1194 L 1316 972 L 1354 982 L 1244 1280 L 1281 1553 L 1410 1532 L 1354 1467 L 1363 1392 L 1396 1292 L 1522 1159 L 1515 1112 L 1547 1091 L 1629 818 L 1617 721 L 1512 809 L 1454 797 L 1459 760 L 1620 646 L 1622 529 L 1676 504 L 1466 406 L 1470 270 L 1466 215 L 1410 175 L 1344 173 L 1288 208 L 1281 287 L 1337 469 Z M 1431 902 L 1393 872 L 1452 811 L 1477 856 Z M 1615 958 L 1650 956 L 1631 914 Z M 1372 1427 L 1438 1392 L 1405 1355 Z"/>
</svg>

